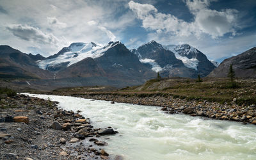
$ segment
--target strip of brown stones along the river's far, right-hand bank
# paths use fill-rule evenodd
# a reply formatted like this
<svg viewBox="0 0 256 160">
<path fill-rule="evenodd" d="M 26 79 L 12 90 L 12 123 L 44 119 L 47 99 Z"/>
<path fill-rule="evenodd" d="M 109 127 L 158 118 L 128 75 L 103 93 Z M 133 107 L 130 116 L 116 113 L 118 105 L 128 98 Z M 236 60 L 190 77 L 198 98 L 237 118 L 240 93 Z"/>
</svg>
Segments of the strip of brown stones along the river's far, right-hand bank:
<svg viewBox="0 0 256 160">
<path fill-rule="evenodd" d="M 145 95 L 145 94 L 116 94 L 116 93 L 88 93 L 73 94 L 75 97 L 86 99 L 109 100 L 111 102 L 124 102 L 131 104 L 140 104 L 148 106 L 161 106 L 161 110 L 168 114 L 183 113 L 191 116 L 204 116 L 217 120 L 232 120 L 243 122 L 244 124 L 256 124 L 256 106 L 239 106 L 236 99 L 232 104 L 219 104 L 217 102 L 208 102 L 207 100 L 186 100 L 173 98 L 171 95 Z"/>
</svg>

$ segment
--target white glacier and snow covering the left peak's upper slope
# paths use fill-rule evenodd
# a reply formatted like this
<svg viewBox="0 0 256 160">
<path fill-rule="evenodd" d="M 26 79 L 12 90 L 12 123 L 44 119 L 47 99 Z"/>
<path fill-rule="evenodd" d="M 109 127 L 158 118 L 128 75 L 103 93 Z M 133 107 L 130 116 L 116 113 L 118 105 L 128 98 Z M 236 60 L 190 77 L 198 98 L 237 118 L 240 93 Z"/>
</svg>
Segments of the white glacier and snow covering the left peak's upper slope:
<svg viewBox="0 0 256 160">
<path fill-rule="evenodd" d="M 116 45 L 116 44 L 115 44 Z M 85 58 L 98 58 L 115 46 L 113 43 L 101 47 L 93 42 L 91 43 L 73 43 L 69 47 L 64 47 L 60 52 L 49 56 L 45 60 L 36 61 L 38 67 L 44 70 L 58 71 L 61 68 L 69 67 Z"/>
</svg>

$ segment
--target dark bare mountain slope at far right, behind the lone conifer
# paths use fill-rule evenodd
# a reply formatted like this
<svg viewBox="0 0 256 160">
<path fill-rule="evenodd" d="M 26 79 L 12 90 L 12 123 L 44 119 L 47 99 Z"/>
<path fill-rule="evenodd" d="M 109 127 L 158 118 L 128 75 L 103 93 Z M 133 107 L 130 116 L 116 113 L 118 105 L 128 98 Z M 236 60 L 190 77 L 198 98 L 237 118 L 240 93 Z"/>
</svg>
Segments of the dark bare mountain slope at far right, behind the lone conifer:
<svg viewBox="0 0 256 160">
<path fill-rule="evenodd" d="M 236 77 L 256 77 L 256 47 L 224 60 L 209 77 L 227 77 L 231 64 Z"/>
</svg>

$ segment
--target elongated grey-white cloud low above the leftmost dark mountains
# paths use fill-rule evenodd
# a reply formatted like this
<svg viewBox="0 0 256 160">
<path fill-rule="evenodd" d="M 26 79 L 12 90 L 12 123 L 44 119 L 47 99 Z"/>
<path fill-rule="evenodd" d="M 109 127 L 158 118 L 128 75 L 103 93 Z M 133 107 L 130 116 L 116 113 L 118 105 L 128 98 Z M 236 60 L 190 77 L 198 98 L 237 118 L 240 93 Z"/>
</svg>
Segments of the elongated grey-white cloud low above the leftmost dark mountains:
<svg viewBox="0 0 256 160">
<path fill-rule="evenodd" d="M 56 36 L 44 33 L 40 29 L 28 25 L 13 24 L 7 26 L 6 29 L 12 32 L 13 35 L 26 41 L 52 45 L 58 45 L 60 42 Z"/>
</svg>

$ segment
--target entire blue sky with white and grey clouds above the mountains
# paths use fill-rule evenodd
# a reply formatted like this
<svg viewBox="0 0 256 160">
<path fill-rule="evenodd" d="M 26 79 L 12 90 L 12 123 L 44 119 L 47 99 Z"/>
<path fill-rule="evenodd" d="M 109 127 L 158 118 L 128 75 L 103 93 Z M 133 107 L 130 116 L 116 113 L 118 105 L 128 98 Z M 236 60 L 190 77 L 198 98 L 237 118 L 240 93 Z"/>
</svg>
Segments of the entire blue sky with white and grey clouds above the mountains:
<svg viewBox="0 0 256 160">
<path fill-rule="evenodd" d="M 0 44 L 49 56 L 72 42 L 190 44 L 221 61 L 256 46 L 255 0 L 0 0 Z"/>
</svg>

